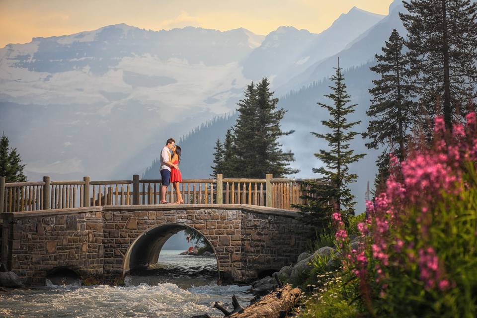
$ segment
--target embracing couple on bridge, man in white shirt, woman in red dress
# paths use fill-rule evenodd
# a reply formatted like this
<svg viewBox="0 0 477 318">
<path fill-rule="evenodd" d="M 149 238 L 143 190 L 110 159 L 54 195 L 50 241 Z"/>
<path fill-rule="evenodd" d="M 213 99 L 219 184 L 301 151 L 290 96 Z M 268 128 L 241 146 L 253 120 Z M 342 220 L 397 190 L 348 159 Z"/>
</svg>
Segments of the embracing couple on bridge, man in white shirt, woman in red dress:
<svg viewBox="0 0 477 318">
<path fill-rule="evenodd" d="M 172 155 L 171 152 L 172 151 Z M 172 183 L 175 189 L 175 195 L 177 200 L 176 204 L 184 203 L 179 190 L 179 182 L 182 182 L 182 175 L 180 174 L 179 164 L 180 162 L 180 147 L 175 145 L 175 140 L 172 138 L 167 139 L 164 148 L 160 152 L 160 178 L 162 186 L 160 187 L 160 204 L 168 204 L 165 200 L 167 193 L 167 187 L 169 183 Z"/>
</svg>

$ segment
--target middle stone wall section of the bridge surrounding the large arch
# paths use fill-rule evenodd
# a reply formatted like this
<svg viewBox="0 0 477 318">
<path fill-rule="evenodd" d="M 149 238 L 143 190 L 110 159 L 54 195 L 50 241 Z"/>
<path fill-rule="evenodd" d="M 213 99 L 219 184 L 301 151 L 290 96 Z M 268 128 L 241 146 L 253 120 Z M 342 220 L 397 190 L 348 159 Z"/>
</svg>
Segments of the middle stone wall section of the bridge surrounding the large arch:
<svg viewBox="0 0 477 318">
<path fill-rule="evenodd" d="M 194 228 L 210 241 L 218 259 L 218 269 L 225 279 L 240 279 L 240 211 L 171 210 L 103 212 L 104 274 L 123 273 L 123 260 L 129 246 L 158 225 L 177 223 Z"/>
</svg>

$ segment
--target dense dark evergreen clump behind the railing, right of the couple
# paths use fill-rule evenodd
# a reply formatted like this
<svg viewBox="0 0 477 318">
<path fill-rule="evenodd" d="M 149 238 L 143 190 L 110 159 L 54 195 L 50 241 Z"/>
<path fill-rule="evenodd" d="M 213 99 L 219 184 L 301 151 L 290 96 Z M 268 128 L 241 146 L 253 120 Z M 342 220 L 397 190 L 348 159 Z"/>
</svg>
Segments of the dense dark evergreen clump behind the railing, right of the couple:
<svg viewBox="0 0 477 318">
<path fill-rule="evenodd" d="M 257 85 L 252 82 L 238 103 L 239 117 L 224 142 L 223 171 L 228 177 L 263 178 L 267 173 L 283 177 L 299 171 L 289 167 L 294 155 L 283 152 L 278 142 L 293 131 L 281 130 L 286 111 L 277 109 L 278 98 L 273 98 L 269 85 L 266 78 Z"/>
</svg>

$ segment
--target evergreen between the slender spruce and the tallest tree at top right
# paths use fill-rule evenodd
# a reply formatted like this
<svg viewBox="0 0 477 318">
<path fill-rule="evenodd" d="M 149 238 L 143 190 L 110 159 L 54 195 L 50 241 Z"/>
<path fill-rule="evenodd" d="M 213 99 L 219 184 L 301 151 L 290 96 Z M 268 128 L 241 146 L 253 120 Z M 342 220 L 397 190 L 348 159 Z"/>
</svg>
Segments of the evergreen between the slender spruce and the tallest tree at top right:
<svg viewBox="0 0 477 318">
<path fill-rule="evenodd" d="M 418 116 L 412 101 L 416 87 L 410 82 L 409 61 L 402 52 L 403 46 L 404 39 L 394 29 L 382 48 L 383 55 L 376 54 L 377 64 L 370 68 L 381 78 L 373 80 L 374 87 L 369 90 L 374 98 L 366 114 L 372 119 L 363 138 L 371 139 L 366 144 L 369 149 L 384 146 L 382 155 L 376 161 L 379 169 L 375 188 L 389 175 L 391 153 L 399 161 L 405 159 L 409 130 Z"/>
</svg>

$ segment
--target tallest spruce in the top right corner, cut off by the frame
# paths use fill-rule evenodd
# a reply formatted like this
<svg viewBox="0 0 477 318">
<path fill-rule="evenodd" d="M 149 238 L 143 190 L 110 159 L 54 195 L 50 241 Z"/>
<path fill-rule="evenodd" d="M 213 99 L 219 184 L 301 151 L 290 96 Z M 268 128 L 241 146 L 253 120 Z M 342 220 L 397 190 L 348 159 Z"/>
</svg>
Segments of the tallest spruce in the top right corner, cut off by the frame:
<svg viewBox="0 0 477 318">
<path fill-rule="evenodd" d="M 409 58 L 420 103 L 428 115 L 442 113 L 445 125 L 467 112 L 476 97 L 477 4 L 470 0 L 402 1 Z M 442 101 L 442 111 L 439 101 Z"/>
</svg>

